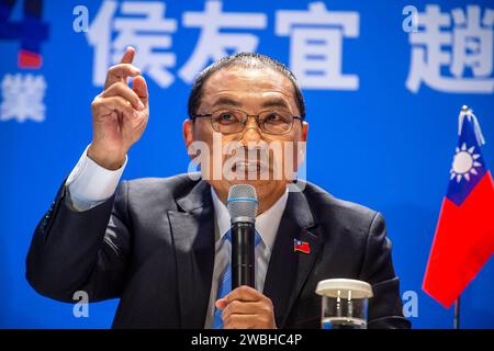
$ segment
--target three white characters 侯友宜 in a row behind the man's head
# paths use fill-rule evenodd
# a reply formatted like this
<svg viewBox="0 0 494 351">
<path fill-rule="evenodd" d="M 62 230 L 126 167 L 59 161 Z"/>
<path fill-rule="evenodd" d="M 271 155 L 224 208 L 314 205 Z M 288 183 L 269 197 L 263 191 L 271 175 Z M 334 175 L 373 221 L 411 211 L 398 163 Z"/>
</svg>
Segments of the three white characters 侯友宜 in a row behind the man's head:
<svg viewBox="0 0 494 351">
<path fill-rule="evenodd" d="M 170 69 L 177 59 L 171 35 L 177 31 L 177 21 L 166 19 L 165 11 L 166 4 L 156 1 L 103 2 L 87 34 L 89 44 L 94 46 L 94 86 L 104 84 L 108 68 L 119 63 L 127 45 L 138 52 L 135 65 L 159 87 L 173 83 Z M 328 11 L 324 2 L 312 2 L 308 10 L 277 11 L 276 21 L 276 34 L 290 36 L 290 66 L 302 88 L 358 90 L 359 77 L 343 73 L 344 37 L 358 37 L 358 12 Z M 178 69 L 178 77 L 192 83 L 211 61 L 233 53 L 256 52 L 256 31 L 267 29 L 268 15 L 227 12 L 222 1 L 210 0 L 203 12 L 183 12 L 181 24 L 201 30 L 193 52 Z"/>
</svg>

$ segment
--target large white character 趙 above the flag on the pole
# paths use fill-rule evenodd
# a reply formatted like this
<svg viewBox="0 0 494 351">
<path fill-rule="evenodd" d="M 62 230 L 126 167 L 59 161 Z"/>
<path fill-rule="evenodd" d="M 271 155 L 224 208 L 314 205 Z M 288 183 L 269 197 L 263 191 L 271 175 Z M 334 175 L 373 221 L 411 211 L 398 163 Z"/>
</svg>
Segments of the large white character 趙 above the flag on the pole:
<svg viewBox="0 0 494 351">
<path fill-rule="evenodd" d="M 420 84 L 450 93 L 492 93 L 494 10 L 478 5 L 453 9 L 427 5 L 418 14 L 418 32 L 408 36 L 412 59 L 406 88 Z M 470 76 L 467 76 L 467 71 Z M 448 73 L 448 75 L 447 75 Z"/>
</svg>

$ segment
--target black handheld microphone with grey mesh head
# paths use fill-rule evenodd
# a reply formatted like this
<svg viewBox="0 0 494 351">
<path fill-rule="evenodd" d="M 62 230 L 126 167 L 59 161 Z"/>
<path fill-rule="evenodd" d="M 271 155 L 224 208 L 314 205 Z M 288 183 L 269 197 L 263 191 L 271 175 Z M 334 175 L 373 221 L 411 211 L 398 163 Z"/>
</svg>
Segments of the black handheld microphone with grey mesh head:
<svg viewBox="0 0 494 351">
<path fill-rule="evenodd" d="M 232 290 L 240 285 L 256 288 L 256 188 L 249 184 L 232 185 L 226 207 L 232 219 Z"/>
</svg>

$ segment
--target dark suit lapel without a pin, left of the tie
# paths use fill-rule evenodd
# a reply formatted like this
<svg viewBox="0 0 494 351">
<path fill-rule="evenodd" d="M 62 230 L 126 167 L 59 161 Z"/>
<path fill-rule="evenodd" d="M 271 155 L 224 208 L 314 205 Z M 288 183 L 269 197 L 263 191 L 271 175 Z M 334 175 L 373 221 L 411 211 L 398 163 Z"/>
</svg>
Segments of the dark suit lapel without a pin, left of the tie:
<svg viewBox="0 0 494 351">
<path fill-rule="evenodd" d="M 211 190 L 199 182 L 177 200 L 184 211 L 169 211 L 173 237 L 182 328 L 203 328 L 214 265 L 214 210 Z"/>
</svg>

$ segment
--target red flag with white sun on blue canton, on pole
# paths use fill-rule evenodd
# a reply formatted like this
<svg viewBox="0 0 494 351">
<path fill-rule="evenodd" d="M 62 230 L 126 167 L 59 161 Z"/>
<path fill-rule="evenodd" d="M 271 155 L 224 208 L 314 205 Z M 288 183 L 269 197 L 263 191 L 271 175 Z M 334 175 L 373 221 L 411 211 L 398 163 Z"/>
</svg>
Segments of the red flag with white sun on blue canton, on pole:
<svg viewBox="0 0 494 351">
<path fill-rule="evenodd" d="M 449 308 L 494 252 L 494 184 L 481 154 L 479 122 L 463 107 L 448 193 L 423 290 Z"/>
</svg>

